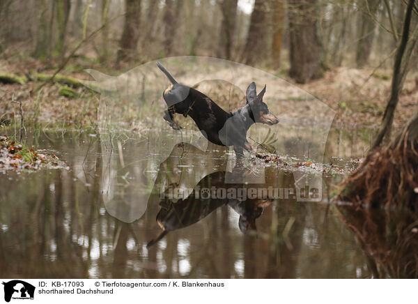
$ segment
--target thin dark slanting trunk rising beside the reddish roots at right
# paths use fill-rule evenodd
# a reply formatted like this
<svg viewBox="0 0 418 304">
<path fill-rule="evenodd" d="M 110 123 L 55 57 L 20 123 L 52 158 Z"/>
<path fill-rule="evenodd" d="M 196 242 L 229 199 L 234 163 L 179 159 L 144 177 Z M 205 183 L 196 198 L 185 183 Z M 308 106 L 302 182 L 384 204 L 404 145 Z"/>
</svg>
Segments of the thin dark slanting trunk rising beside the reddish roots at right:
<svg viewBox="0 0 418 304">
<path fill-rule="evenodd" d="M 396 105 L 398 105 L 399 95 L 401 94 L 403 88 L 403 82 L 405 80 L 406 74 L 408 73 L 408 66 L 412 50 L 414 49 L 418 39 L 417 25 L 415 26 L 415 30 L 412 33 L 411 39 L 408 41 L 413 5 L 414 0 L 410 0 L 405 13 L 405 20 L 403 22 L 401 43 L 396 50 L 394 73 L 392 76 L 392 89 L 390 92 L 389 100 L 387 101 L 385 114 L 383 114 L 382 123 L 380 125 L 378 134 L 376 135 L 376 138 L 371 146 L 371 149 L 376 149 L 382 143 L 383 139 L 385 139 L 385 137 L 390 134 Z"/>
</svg>

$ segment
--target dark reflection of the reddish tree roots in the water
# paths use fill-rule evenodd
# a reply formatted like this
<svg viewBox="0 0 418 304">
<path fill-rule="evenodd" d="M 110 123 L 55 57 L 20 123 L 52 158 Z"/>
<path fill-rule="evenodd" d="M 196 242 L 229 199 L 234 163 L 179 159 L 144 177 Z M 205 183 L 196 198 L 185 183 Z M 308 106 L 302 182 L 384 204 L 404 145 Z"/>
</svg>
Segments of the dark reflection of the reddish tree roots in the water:
<svg viewBox="0 0 418 304">
<path fill-rule="evenodd" d="M 385 212 L 340 207 L 374 278 L 418 278 L 418 217 L 409 211 Z"/>
</svg>

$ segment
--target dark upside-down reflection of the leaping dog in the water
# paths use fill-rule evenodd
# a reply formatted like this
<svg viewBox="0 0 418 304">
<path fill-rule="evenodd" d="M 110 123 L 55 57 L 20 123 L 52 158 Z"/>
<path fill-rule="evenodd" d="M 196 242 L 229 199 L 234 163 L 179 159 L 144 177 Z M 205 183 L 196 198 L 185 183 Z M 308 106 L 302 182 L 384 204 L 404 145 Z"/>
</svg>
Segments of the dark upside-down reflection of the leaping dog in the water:
<svg viewBox="0 0 418 304">
<path fill-rule="evenodd" d="M 242 189 L 242 183 L 225 183 L 226 174 L 231 172 L 214 172 L 208 174 L 199 181 L 195 189 L 202 188 L 226 188 L 226 189 Z M 250 174 L 245 167 L 237 164 L 232 174 Z M 251 185 L 247 185 L 251 186 Z M 255 185 L 260 186 L 260 185 Z M 254 187 L 256 188 L 256 187 Z M 235 192 L 236 193 L 236 192 Z M 261 199 L 245 199 L 240 200 L 234 198 L 217 198 L 217 197 L 201 197 L 196 192 L 192 192 L 187 198 L 179 199 L 173 202 L 172 199 L 164 198 L 160 202 L 160 211 L 157 213 L 157 224 L 162 229 L 161 233 L 150 241 L 147 248 L 160 241 L 170 231 L 185 228 L 206 218 L 215 209 L 228 205 L 236 213 L 240 215 L 238 227 L 243 233 L 256 231 L 256 219 L 259 218 L 266 207 L 270 206 L 273 199 L 263 197 Z"/>
</svg>

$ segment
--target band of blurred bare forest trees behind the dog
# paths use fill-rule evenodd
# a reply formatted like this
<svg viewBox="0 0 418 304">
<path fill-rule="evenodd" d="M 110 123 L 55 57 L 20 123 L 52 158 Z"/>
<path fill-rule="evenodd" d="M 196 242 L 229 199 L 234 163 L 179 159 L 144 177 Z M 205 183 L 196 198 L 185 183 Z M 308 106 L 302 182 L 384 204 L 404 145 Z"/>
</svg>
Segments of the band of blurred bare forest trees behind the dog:
<svg viewBox="0 0 418 304">
<path fill-rule="evenodd" d="M 102 26 L 75 52 L 84 66 L 216 56 L 306 83 L 332 67 L 391 67 L 405 8 L 403 0 L 1 0 L 0 52 L 54 66 Z"/>
</svg>

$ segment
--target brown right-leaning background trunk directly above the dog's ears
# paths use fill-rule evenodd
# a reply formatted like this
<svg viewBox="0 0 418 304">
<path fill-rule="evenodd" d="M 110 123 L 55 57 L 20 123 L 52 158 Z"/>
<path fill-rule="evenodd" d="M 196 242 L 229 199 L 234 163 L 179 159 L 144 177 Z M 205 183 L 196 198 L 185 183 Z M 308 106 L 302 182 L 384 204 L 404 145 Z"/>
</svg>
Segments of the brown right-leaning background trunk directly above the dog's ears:
<svg viewBox="0 0 418 304">
<path fill-rule="evenodd" d="M 254 65 L 256 60 L 263 56 L 265 50 L 265 0 L 256 0 L 254 9 L 251 13 L 251 21 L 245 43 L 243 61 L 249 65 Z"/>
</svg>

